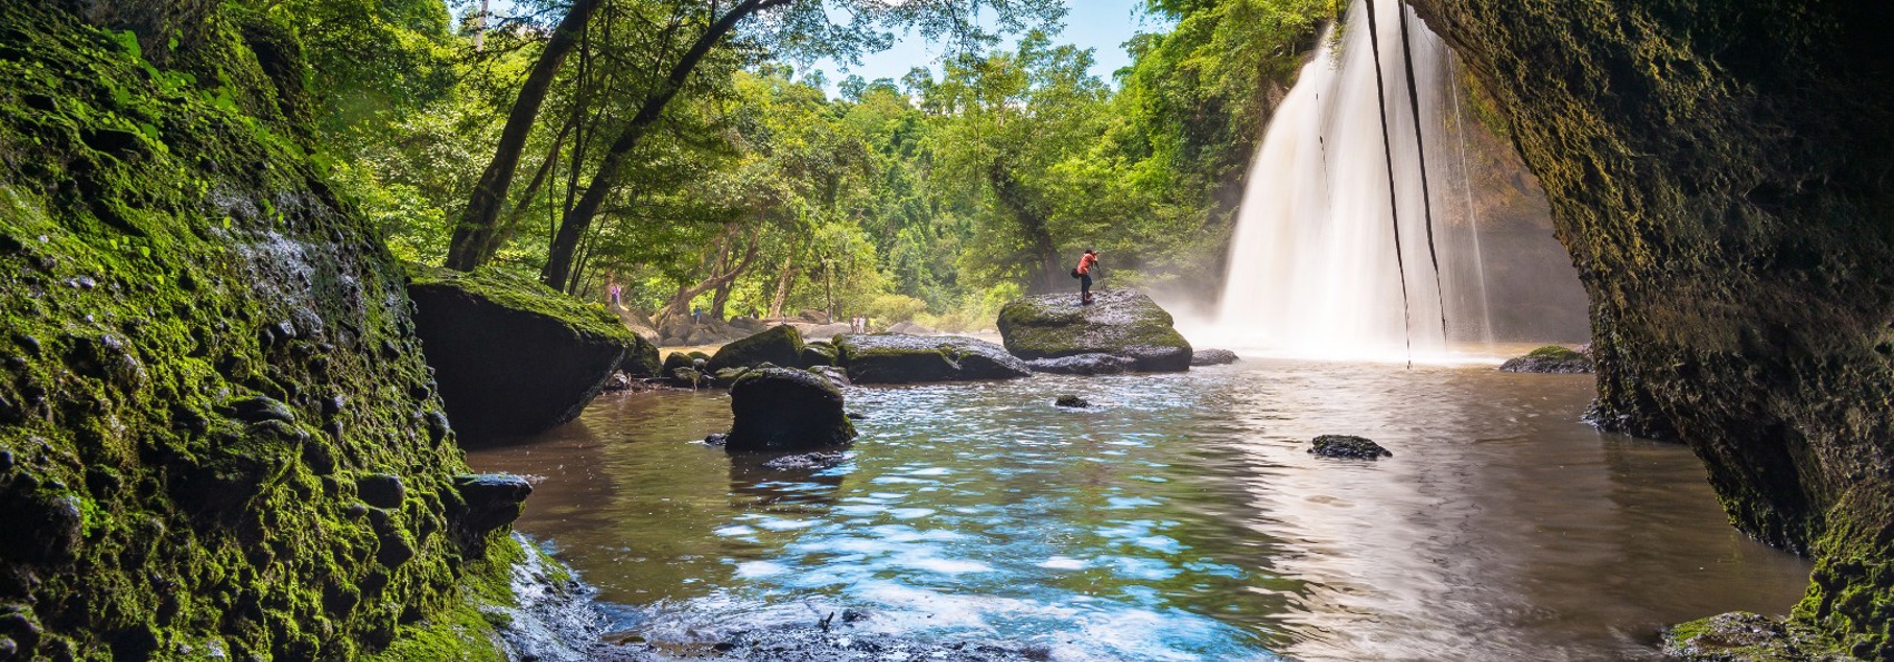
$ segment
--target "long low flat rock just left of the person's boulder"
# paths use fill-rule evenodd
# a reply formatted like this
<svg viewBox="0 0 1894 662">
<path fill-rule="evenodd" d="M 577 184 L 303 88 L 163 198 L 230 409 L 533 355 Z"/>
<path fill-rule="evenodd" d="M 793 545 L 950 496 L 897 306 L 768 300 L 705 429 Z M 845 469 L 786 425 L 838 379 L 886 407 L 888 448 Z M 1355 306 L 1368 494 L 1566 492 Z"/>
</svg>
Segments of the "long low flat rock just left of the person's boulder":
<svg viewBox="0 0 1894 662">
<path fill-rule="evenodd" d="M 1006 348 L 962 337 L 845 333 L 835 337 L 835 359 L 856 384 L 1008 380 L 1032 375 Z"/>
</svg>

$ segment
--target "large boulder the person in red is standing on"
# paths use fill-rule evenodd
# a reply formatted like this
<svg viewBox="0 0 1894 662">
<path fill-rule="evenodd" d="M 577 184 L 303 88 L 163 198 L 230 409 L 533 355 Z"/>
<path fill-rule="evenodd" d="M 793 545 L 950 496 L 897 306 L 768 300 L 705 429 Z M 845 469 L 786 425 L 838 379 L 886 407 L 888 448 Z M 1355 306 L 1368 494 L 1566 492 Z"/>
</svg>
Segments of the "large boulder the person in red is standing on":
<svg viewBox="0 0 1894 662">
<path fill-rule="evenodd" d="M 1189 342 L 1152 297 L 1110 289 L 1095 293 L 1093 301 L 1081 306 L 1076 293 L 1063 293 L 1008 303 L 1000 308 L 1006 350 L 1023 359 L 1114 354 L 1135 359 L 1146 373 L 1189 369 Z"/>
</svg>

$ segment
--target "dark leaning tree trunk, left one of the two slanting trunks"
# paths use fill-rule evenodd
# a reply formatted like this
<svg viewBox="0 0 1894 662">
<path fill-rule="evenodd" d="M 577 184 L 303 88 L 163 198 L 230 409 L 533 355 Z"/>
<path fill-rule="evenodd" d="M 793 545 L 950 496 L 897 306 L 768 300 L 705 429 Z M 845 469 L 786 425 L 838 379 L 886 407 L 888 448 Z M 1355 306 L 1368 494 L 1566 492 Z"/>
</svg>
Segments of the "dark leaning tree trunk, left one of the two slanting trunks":
<svg viewBox="0 0 1894 662">
<path fill-rule="evenodd" d="M 574 0 L 572 9 L 566 9 L 566 17 L 559 21 L 553 38 L 540 51 L 540 59 L 532 62 L 532 72 L 527 74 L 527 83 L 521 85 L 519 98 L 513 100 L 513 110 L 500 131 L 492 161 L 481 172 L 479 183 L 474 185 L 474 195 L 468 199 L 468 208 L 455 227 L 455 238 L 447 248 L 447 269 L 474 270 L 479 267 L 483 248 L 492 244 L 492 235 L 500 231 L 500 206 L 506 202 L 506 191 L 513 185 L 513 172 L 519 168 L 519 153 L 527 148 L 527 136 L 532 134 L 532 121 L 540 115 L 540 106 L 559 74 L 559 64 L 578 45 L 580 34 L 585 32 L 593 11 L 599 9 L 599 2 Z"/>
</svg>

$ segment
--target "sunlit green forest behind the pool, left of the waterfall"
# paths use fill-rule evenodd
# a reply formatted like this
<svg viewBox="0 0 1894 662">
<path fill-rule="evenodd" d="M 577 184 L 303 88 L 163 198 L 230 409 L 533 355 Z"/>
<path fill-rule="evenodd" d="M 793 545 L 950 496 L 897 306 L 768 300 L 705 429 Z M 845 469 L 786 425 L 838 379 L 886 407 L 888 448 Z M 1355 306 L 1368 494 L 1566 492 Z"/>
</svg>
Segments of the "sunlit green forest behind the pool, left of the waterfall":
<svg viewBox="0 0 1894 662">
<path fill-rule="evenodd" d="M 947 331 L 1061 280 L 1214 280 L 1273 100 L 1331 0 L 1152 2 L 1100 79 L 1057 2 L 284 0 L 339 191 L 402 259 L 669 316 L 822 310 Z M 722 30 L 722 32 L 720 32 Z M 902 79 L 797 68 L 894 30 Z"/>
</svg>

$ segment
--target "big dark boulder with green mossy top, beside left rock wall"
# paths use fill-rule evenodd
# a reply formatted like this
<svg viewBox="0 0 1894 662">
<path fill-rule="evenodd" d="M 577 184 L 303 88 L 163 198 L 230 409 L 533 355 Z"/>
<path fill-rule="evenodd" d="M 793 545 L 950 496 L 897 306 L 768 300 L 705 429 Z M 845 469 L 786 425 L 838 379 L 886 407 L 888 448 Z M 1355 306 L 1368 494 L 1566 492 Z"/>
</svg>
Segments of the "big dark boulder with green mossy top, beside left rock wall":
<svg viewBox="0 0 1894 662">
<path fill-rule="evenodd" d="M 642 340 L 597 306 L 496 269 L 411 267 L 415 335 L 447 420 L 468 444 L 534 435 L 578 418 Z"/>
</svg>

